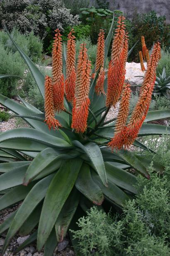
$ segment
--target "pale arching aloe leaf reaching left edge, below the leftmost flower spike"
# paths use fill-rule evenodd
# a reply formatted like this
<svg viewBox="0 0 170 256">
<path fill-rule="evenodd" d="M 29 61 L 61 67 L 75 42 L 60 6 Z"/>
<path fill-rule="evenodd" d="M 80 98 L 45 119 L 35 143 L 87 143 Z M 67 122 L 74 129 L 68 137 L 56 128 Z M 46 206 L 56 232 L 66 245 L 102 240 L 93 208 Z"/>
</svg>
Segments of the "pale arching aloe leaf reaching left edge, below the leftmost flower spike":
<svg viewBox="0 0 170 256">
<path fill-rule="evenodd" d="M 36 129 L 32 128 L 17 128 L 0 134 L 0 142 L 6 142 L 9 140 L 10 142 L 17 143 L 18 139 L 28 140 L 28 142 L 38 142 L 40 144 L 45 144 L 51 147 L 73 147 L 63 139 L 54 137 L 45 132 L 37 131 Z M 34 149 L 34 147 L 32 147 L 32 149 Z"/>
</svg>

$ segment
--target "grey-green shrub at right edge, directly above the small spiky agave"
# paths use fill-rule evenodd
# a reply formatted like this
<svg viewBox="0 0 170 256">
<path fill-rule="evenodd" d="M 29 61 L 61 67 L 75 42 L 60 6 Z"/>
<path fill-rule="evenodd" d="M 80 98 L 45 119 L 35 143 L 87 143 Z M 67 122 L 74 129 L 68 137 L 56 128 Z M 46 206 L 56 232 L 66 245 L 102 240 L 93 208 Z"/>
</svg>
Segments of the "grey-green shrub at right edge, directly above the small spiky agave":
<svg viewBox="0 0 170 256">
<path fill-rule="evenodd" d="M 157 71 L 162 74 L 163 67 L 165 67 L 167 77 L 170 77 L 170 48 L 162 47 L 161 58 L 158 62 Z"/>
</svg>

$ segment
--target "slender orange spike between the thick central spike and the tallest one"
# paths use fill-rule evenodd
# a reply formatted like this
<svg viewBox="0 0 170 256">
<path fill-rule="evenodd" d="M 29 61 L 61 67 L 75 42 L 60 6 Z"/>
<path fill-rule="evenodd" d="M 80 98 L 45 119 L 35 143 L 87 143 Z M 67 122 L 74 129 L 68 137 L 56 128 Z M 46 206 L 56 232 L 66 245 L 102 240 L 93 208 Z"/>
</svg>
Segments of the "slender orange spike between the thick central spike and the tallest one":
<svg viewBox="0 0 170 256">
<path fill-rule="evenodd" d="M 104 30 L 100 30 L 97 40 L 97 55 L 96 55 L 96 65 L 95 65 L 95 72 L 100 69 L 95 91 L 97 94 L 103 93 L 104 94 Z"/>
</svg>

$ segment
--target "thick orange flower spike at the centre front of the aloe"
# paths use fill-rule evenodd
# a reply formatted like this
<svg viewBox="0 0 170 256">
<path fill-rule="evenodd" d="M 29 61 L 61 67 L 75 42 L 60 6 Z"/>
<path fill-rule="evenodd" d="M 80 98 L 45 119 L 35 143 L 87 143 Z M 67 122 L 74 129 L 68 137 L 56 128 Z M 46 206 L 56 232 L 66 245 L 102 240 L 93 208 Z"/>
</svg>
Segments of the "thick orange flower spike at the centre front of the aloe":
<svg viewBox="0 0 170 256">
<path fill-rule="evenodd" d="M 83 60 L 83 62 L 81 62 Z M 73 118 L 71 127 L 75 132 L 83 133 L 87 129 L 88 108 L 90 99 L 88 98 L 90 89 L 91 64 L 87 60 L 87 49 L 81 45 L 77 65 L 77 80 L 75 85 L 75 99 L 73 102 Z"/>
</svg>

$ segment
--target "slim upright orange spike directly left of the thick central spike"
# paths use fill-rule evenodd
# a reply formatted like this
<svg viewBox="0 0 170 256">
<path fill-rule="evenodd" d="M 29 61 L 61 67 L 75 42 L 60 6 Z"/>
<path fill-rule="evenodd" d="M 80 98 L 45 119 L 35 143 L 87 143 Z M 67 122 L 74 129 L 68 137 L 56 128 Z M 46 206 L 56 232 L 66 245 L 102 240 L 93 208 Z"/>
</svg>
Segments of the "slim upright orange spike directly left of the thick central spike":
<svg viewBox="0 0 170 256">
<path fill-rule="evenodd" d="M 66 61 L 66 82 L 65 91 L 66 97 L 69 102 L 72 102 L 75 94 L 75 36 L 73 35 L 74 30 L 72 29 L 68 34 L 67 41 L 67 61 Z"/>
</svg>

